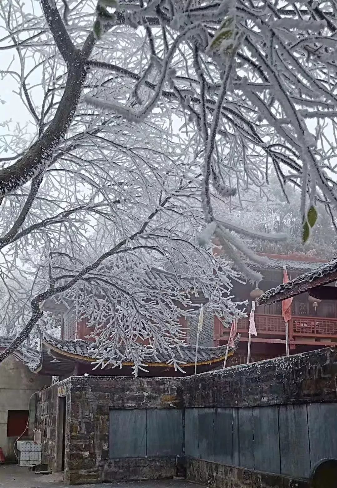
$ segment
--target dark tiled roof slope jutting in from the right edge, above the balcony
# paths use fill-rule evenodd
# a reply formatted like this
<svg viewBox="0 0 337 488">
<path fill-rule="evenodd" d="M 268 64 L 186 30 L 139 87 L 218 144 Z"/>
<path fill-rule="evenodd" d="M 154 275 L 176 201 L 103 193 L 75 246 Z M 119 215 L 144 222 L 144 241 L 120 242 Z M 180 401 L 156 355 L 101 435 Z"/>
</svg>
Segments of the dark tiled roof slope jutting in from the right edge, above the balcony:
<svg viewBox="0 0 337 488">
<path fill-rule="evenodd" d="M 263 295 L 258 300 L 258 303 L 263 305 L 267 301 L 268 303 L 278 302 L 283 300 L 284 298 L 288 298 L 288 296 L 293 296 L 291 293 L 295 290 L 295 287 L 298 288 L 299 285 L 308 284 L 308 288 L 311 288 L 314 282 L 320 278 L 326 278 L 325 283 L 329 283 L 330 275 L 333 275 L 337 272 L 337 259 L 329 261 L 328 263 L 321 264 L 320 266 L 315 267 L 311 271 L 304 273 L 300 276 L 297 276 L 294 280 L 289 281 L 288 283 L 281 283 L 280 285 L 276 286 L 275 288 L 271 288 L 268 291 L 265 291 Z M 331 276 L 330 282 L 335 281 L 336 277 Z M 305 290 L 296 290 L 295 294 L 303 293 Z M 287 292 L 287 297 L 283 295 L 280 296 L 282 293 Z"/>
</svg>

